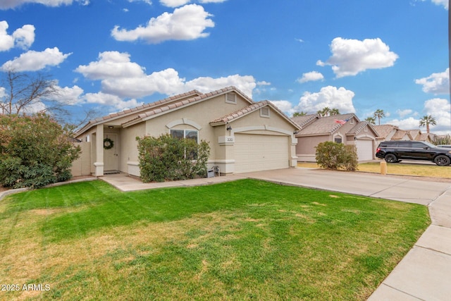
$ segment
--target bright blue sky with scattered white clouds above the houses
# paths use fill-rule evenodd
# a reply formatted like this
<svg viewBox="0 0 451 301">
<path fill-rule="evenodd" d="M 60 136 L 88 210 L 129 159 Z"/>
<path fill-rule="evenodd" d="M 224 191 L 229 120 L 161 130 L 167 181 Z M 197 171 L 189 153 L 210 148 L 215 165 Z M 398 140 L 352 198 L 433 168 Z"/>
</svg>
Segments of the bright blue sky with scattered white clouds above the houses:
<svg viewBox="0 0 451 301">
<path fill-rule="evenodd" d="M 74 120 L 234 85 L 288 115 L 328 106 L 363 120 L 383 109 L 381 123 L 413 129 L 432 115 L 431 131 L 445 134 L 447 4 L 2 0 L 0 68 L 50 74 Z"/>
</svg>

